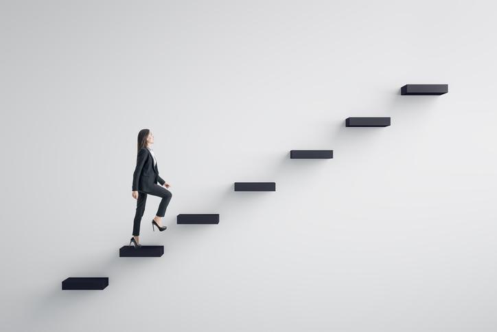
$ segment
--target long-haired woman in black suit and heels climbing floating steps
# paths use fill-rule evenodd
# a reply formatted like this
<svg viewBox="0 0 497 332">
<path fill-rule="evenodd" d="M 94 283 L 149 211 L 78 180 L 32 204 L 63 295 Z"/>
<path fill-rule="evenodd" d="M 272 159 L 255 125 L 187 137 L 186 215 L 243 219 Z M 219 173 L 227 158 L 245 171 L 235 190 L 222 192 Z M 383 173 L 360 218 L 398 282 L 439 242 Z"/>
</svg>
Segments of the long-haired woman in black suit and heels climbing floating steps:
<svg viewBox="0 0 497 332">
<path fill-rule="evenodd" d="M 135 221 L 133 222 L 133 237 L 130 240 L 130 246 L 133 245 L 135 248 L 141 247 L 139 243 L 140 222 L 145 211 L 147 195 L 162 197 L 157 215 L 152 220 L 152 230 L 155 230 L 154 227 L 157 227 L 161 232 L 166 229 L 165 226 L 162 226 L 161 219 L 164 217 L 165 209 L 172 197 L 172 193 L 166 189 L 170 185 L 166 184 L 159 177 L 159 169 L 157 168 L 154 151 L 150 148 L 151 144 L 154 144 L 154 135 L 148 129 L 141 129 L 138 133 L 137 166 L 135 173 L 133 173 L 132 184 L 132 197 L 137 199 L 137 211 L 135 213 Z M 157 181 L 159 181 L 161 186 L 157 184 Z"/>
</svg>

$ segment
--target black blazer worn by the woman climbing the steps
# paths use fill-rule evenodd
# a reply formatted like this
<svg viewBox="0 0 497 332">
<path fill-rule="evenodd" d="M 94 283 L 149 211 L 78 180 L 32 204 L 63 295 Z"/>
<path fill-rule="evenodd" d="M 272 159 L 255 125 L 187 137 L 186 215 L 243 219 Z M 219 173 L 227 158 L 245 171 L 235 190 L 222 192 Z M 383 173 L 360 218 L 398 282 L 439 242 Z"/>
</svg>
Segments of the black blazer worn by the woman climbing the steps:
<svg viewBox="0 0 497 332">
<path fill-rule="evenodd" d="M 137 155 L 137 166 L 135 168 L 135 173 L 133 173 L 133 185 L 132 191 L 137 190 L 147 190 L 152 186 L 152 184 L 159 184 L 161 186 L 165 184 L 165 181 L 159 177 L 159 168 L 157 168 L 158 162 L 154 166 L 154 158 L 152 153 L 148 151 L 148 148 L 140 148 Z"/>
</svg>

